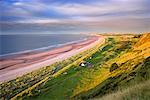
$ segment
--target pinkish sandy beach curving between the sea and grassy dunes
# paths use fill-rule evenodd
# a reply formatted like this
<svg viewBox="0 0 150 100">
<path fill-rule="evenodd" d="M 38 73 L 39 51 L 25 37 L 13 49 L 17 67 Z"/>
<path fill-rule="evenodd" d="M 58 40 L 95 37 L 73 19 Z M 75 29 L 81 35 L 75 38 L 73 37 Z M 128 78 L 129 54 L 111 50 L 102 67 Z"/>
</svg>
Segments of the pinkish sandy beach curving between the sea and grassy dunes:
<svg viewBox="0 0 150 100">
<path fill-rule="evenodd" d="M 1 58 L 0 82 L 15 79 L 18 76 L 32 72 L 41 67 L 65 60 L 95 46 L 103 40 L 101 36 L 92 36 L 82 42 L 68 44 L 44 52 L 27 52 L 14 57 Z"/>
</svg>

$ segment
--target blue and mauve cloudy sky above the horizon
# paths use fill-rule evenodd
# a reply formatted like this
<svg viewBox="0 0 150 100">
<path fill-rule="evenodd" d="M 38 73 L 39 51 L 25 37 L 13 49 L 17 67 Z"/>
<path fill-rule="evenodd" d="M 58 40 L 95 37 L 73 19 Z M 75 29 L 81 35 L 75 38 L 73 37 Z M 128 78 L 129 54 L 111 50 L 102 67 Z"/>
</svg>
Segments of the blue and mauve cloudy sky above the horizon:
<svg viewBox="0 0 150 100">
<path fill-rule="evenodd" d="M 149 32 L 150 0 L 0 0 L 5 32 Z"/>
</svg>

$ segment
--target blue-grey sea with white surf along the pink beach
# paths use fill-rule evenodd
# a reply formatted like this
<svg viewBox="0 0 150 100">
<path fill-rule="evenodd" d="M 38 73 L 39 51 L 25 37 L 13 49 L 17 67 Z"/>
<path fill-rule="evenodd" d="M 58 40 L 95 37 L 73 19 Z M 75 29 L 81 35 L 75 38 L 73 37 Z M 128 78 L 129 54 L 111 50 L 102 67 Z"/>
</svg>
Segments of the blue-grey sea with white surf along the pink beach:
<svg viewBox="0 0 150 100">
<path fill-rule="evenodd" d="M 87 39 L 85 34 L 0 35 L 0 57 L 30 51 L 43 51 Z"/>
</svg>

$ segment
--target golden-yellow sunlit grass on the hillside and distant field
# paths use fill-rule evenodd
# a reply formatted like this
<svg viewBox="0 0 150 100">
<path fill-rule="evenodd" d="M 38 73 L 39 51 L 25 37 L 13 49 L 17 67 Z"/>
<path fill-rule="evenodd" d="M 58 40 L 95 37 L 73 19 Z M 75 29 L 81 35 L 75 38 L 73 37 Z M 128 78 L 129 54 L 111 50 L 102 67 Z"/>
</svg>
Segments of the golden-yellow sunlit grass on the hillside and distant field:
<svg viewBox="0 0 150 100">
<path fill-rule="evenodd" d="M 147 36 L 148 35 L 148 36 Z M 117 75 L 120 75 L 121 73 L 128 73 L 132 71 L 134 66 L 138 63 L 140 63 L 144 58 L 150 56 L 150 34 L 144 35 L 142 38 L 140 38 L 139 42 L 136 43 L 136 46 L 134 46 L 134 49 L 132 49 L 129 52 L 125 52 L 123 54 L 120 54 L 118 57 L 104 63 L 101 68 L 98 70 L 97 75 L 93 75 L 94 78 L 88 80 L 88 79 L 82 79 L 80 83 L 78 83 L 77 87 L 74 89 L 73 96 L 78 95 L 82 92 L 86 92 L 100 83 L 102 83 L 104 80 L 108 79 L 109 77 L 114 77 Z M 112 37 L 112 36 L 111 36 Z M 115 41 L 135 41 L 133 40 L 133 36 L 129 37 L 123 37 L 123 36 L 113 36 L 115 38 Z M 145 40 L 146 39 L 146 40 Z M 136 40 L 137 41 L 137 40 Z M 119 45 L 118 45 L 119 46 Z M 118 68 L 117 70 L 113 72 L 109 72 L 108 69 L 105 69 L 105 67 L 110 67 L 112 63 L 117 63 L 121 65 L 124 62 L 132 61 L 130 66 L 123 65 L 121 68 Z M 96 72 L 95 72 L 96 73 Z M 89 73 L 88 73 L 89 74 Z M 94 74 L 94 73 L 93 73 Z M 72 97 L 73 97 L 72 96 Z M 111 100 L 111 99 L 108 99 Z"/>
</svg>

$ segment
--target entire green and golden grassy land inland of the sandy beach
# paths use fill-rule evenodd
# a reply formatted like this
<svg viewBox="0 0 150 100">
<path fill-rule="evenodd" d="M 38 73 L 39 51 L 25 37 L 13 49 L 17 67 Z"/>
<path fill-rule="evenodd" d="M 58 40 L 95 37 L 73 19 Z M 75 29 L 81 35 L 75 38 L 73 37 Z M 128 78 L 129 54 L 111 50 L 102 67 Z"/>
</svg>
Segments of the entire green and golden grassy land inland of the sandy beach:
<svg viewBox="0 0 150 100">
<path fill-rule="evenodd" d="M 71 60 L 17 78 L 19 81 L 16 79 L 1 84 L 2 98 L 12 98 L 29 89 L 17 99 L 149 100 L 150 33 L 105 37 L 105 44 L 72 57 Z M 89 62 L 92 67 L 81 67 L 82 61 Z M 51 74 L 51 69 L 58 65 L 63 67 Z M 42 84 L 31 88 L 45 78 Z M 18 87 L 16 84 L 25 85 Z M 15 86 L 14 91 L 7 91 L 8 86 Z"/>
</svg>

